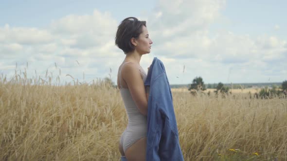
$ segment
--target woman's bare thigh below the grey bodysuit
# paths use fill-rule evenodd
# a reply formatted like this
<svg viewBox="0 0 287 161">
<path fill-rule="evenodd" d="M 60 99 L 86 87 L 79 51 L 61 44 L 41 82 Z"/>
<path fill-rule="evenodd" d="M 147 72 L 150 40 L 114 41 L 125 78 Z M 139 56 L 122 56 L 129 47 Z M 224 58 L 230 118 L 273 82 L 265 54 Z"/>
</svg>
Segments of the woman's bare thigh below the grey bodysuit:
<svg viewBox="0 0 287 161">
<path fill-rule="evenodd" d="M 136 141 L 126 149 L 126 159 L 128 161 L 145 161 L 146 137 Z"/>
</svg>

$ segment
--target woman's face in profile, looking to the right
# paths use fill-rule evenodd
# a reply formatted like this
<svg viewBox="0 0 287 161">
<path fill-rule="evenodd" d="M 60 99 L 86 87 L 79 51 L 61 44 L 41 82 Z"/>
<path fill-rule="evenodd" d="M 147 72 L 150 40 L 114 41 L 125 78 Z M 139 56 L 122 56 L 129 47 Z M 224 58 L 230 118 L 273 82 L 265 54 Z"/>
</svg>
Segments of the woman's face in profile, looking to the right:
<svg viewBox="0 0 287 161">
<path fill-rule="evenodd" d="M 135 40 L 137 43 L 135 49 L 141 54 L 146 54 L 150 53 L 152 41 L 148 36 L 148 31 L 146 27 L 143 26 L 142 29 L 143 32 L 139 35 L 139 38 Z"/>
</svg>

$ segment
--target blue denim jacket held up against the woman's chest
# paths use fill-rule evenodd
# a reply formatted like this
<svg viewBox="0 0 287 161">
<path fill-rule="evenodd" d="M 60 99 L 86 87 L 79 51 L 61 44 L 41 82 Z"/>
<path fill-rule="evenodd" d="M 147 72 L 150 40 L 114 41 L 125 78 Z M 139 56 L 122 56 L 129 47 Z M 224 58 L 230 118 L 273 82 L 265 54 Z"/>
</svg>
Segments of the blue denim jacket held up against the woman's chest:
<svg viewBox="0 0 287 161">
<path fill-rule="evenodd" d="M 169 82 L 162 62 L 156 57 L 144 85 L 150 86 L 146 161 L 183 161 Z"/>
</svg>

